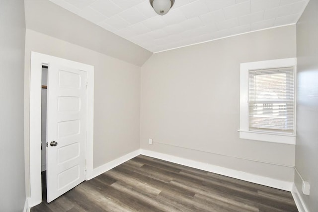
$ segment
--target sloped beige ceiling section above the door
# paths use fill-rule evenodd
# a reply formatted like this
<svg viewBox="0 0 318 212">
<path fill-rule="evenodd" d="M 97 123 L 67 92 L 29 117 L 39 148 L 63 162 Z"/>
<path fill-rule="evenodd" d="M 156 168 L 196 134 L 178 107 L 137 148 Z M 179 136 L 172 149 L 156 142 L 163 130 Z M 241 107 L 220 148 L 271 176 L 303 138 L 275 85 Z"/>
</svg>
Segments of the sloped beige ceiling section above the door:
<svg viewBox="0 0 318 212">
<path fill-rule="evenodd" d="M 84 0 L 79 0 L 79 2 L 81 1 L 84 2 Z M 137 66 L 142 66 L 153 54 L 49 0 L 25 0 L 24 7 L 27 29 Z"/>
</svg>

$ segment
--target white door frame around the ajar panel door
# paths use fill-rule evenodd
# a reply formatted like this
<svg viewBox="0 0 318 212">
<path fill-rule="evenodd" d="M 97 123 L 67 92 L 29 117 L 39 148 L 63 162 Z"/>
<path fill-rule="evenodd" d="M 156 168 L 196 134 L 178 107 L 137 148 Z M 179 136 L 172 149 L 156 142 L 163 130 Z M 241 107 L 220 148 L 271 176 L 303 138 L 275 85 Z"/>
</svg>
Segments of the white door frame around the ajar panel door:
<svg viewBox="0 0 318 212">
<path fill-rule="evenodd" d="M 29 206 L 42 202 L 41 185 L 41 85 L 42 65 L 58 63 L 67 67 L 87 72 L 87 111 L 86 111 L 86 175 L 93 175 L 93 125 L 94 125 L 94 67 L 50 55 L 31 52 L 30 69 L 30 121 L 29 121 L 29 173 L 30 198 Z"/>
</svg>

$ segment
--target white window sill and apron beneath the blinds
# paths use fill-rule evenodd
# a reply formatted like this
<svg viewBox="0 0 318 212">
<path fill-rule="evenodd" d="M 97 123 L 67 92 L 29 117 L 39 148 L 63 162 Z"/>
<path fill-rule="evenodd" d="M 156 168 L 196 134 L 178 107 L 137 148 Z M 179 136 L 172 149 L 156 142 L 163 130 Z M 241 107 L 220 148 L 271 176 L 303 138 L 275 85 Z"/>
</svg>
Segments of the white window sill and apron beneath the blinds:
<svg viewBox="0 0 318 212">
<path fill-rule="evenodd" d="M 266 141 L 274 143 L 286 143 L 286 144 L 296 144 L 296 136 L 294 135 L 277 135 L 267 132 L 253 132 L 239 130 L 240 139 L 248 139 L 255 141 Z"/>
</svg>

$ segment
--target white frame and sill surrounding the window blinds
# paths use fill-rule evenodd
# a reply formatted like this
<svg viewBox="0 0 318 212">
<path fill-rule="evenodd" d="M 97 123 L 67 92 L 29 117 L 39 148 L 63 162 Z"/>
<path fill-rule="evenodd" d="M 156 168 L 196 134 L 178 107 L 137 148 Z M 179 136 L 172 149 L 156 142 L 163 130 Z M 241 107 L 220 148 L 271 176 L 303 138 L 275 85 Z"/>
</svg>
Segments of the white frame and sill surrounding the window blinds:
<svg viewBox="0 0 318 212">
<path fill-rule="evenodd" d="M 239 138 L 267 141 L 276 143 L 296 144 L 296 58 L 259 61 L 240 64 L 240 111 L 239 111 Z M 295 103 L 294 103 L 294 134 L 284 134 L 267 131 L 250 131 L 248 126 L 248 71 L 257 69 L 273 69 L 280 67 L 294 67 L 295 76 Z"/>
</svg>

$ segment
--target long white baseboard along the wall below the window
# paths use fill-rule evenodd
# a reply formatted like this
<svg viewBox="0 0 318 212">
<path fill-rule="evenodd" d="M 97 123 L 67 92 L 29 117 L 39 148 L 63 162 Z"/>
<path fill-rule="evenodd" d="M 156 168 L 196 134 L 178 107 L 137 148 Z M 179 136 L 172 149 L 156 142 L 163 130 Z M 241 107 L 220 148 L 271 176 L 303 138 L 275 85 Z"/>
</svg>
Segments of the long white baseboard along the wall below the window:
<svg viewBox="0 0 318 212">
<path fill-rule="evenodd" d="M 181 157 L 176 157 L 169 154 L 163 154 L 155 151 L 140 149 L 140 154 L 155 157 L 161 160 L 166 160 L 173 163 L 178 163 L 181 165 L 189 166 L 192 168 L 201 169 L 204 171 L 213 172 L 216 174 L 225 175 L 228 177 L 233 177 L 239 180 L 244 180 L 252 183 L 257 183 L 264 186 L 269 186 L 277 189 L 282 189 L 285 191 L 291 191 L 292 190 L 292 182 L 277 180 L 274 178 L 259 176 L 247 172 L 242 172 L 234 169 L 224 168 L 221 166 L 216 166 L 208 163 L 198 162 L 195 160 L 185 159 Z"/>
</svg>

